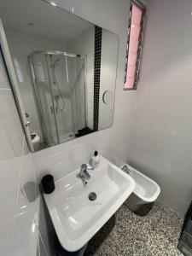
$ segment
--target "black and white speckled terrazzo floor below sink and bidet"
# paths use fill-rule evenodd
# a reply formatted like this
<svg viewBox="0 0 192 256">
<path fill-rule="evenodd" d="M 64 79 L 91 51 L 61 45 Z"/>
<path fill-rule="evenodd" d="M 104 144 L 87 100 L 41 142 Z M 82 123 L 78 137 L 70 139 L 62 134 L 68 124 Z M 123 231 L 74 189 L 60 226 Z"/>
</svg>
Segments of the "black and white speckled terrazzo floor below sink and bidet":
<svg viewBox="0 0 192 256">
<path fill-rule="evenodd" d="M 94 236 L 84 256 L 179 256 L 177 242 L 183 218 L 156 202 L 146 217 L 124 205 Z"/>
</svg>

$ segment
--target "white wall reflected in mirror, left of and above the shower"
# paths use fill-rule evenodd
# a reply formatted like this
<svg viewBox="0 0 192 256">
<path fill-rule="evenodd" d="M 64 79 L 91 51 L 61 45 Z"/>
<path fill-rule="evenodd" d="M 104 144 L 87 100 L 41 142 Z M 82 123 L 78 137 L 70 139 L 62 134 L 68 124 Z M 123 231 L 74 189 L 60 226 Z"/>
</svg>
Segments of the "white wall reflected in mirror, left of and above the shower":
<svg viewBox="0 0 192 256">
<path fill-rule="evenodd" d="M 27 55 L 37 50 L 65 50 L 66 45 L 55 40 L 47 38 L 39 38 L 31 34 L 16 31 L 12 28 L 5 27 L 6 37 L 9 43 L 9 50 L 12 55 L 12 59 L 17 61 L 20 70 L 20 76 L 17 78 L 20 85 L 20 94 L 24 104 L 26 113 L 31 117 L 31 130 L 34 130 L 42 137 L 41 129 L 38 121 L 38 113 L 35 107 L 34 96 L 32 92 L 32 80 L 31 73 L 27 61 Z M 15 67 L 17 71 L 18 68 Z M 60 124 L 59 124 L 60 125 Z M 62 124 L 61 124 L 62 125 Z"/>
</svg>

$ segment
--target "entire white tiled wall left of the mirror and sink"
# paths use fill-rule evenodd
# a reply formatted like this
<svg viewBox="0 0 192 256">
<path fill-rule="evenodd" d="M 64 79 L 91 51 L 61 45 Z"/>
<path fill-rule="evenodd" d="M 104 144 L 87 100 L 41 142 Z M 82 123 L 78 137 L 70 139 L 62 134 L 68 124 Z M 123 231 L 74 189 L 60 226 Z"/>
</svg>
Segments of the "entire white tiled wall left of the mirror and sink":
<svg viewBox="0 0 192 256">
<path fill-rule="evenodd" d="M 1 55 L 0 63 L 0 255 L 34 256 L 40 203 L 35 168 Z"/>
</svg>

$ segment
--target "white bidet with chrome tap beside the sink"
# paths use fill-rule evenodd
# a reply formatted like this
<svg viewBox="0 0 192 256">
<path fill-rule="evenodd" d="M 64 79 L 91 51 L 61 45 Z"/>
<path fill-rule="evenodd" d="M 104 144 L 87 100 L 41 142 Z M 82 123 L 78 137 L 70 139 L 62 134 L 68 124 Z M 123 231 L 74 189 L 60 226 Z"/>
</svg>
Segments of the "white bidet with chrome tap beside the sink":
<svg viewBox="0 0 192 256">
<path fill-rule="evenodd" d="M 146 215 L 160 195 L 160 186 L 154 180 L 127 164 L 120 168 L 136 182 L 136 188 L 125 201 L 125 206 L 137 215 Z"/>
</svg>

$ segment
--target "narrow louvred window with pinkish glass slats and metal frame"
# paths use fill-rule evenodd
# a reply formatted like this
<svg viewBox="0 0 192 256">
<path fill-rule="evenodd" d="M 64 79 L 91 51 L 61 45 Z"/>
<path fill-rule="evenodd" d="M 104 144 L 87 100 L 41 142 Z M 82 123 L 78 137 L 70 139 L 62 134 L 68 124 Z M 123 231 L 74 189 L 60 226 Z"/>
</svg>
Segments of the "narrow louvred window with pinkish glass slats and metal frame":
<svg viewBox="0 0 192 256">
<path fill-rule="evenodd" d="M 125 64 L 125 90 L 136 90 L 143 44 L 145 7 L 131 1 Z"/>
</svg>

